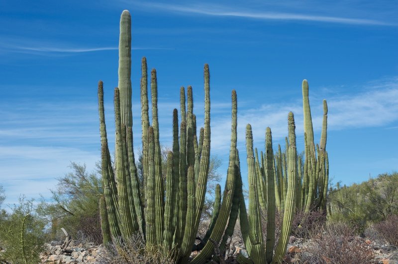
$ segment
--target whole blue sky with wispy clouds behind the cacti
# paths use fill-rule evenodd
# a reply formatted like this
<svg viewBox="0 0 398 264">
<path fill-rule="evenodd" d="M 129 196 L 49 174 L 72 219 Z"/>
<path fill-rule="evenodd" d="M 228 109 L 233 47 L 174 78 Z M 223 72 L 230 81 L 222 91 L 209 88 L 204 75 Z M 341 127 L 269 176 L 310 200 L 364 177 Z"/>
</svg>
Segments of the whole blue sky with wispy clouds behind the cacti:
<svg viewBox="0 0 398 264">
<path fill-rule="evenodd" d="M 198 123 L 210 67 L 211 153 L 229 152 L 230 92 L 264 148 L 284 144 L 287 114 L 303 150 L 301 81 L 308 79 L 316 142 L 328 101 L 329 176 L 343 184 L 397 170 L 398 5 L 390 1 L 1 1 L 0 184 L 5 203 L 48 196 L 70 161 L 100 159 L 97 83 L 104 81 L 109 141 L 119 18 L 132 15 L 134 146 L 140 142 L 140 61 L 158 72 L 161 141 L 171 142 L 179 88 L 192 85 Z M 113 146 L 111 146 L 112 149 Z M 245 168 L 243 178 L 246 178 Z M 222 184 L 223 185 L 223 184 Z"/>
</svg>

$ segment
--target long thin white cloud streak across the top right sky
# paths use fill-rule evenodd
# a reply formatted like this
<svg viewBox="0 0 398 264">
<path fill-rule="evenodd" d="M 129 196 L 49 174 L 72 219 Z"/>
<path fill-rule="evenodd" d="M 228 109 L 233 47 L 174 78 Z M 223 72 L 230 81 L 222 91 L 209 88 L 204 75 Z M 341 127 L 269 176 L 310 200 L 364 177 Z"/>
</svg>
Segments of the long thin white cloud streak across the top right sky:
<svg viewBox="0 0 398 264">
<path fill-rule="evenodd" d="M 130 3 L 131 1 L 124 1 Z M 315 21 L 325 23 L 338 23 L 338 24 L 352 24 L 352 25 L 379 25 L 379 26 L 397 26 L 397 24 L 384 22 L 374 19 L 363 18 L 348 18 L 339 16 L 327 15 L 309 15 L 301 13 L 287 13 L 287 12 L 262 12 L 258 10 L 245 10 L 242 8 L 233 9 L 231 7 L 214 4 L 192 4 L 192 5 L 178 5 L 178 4 L 165 4 L 165 3 L 148 3 L 143 1 L 133 1 L 136 6 L 141 6 L 151 10 L 166 10 L 180 14 L 200 14 L 209 16 L 230 16 L 242 17 L 260 20 L 286 20 L 286 21 Z"/>
</svg>

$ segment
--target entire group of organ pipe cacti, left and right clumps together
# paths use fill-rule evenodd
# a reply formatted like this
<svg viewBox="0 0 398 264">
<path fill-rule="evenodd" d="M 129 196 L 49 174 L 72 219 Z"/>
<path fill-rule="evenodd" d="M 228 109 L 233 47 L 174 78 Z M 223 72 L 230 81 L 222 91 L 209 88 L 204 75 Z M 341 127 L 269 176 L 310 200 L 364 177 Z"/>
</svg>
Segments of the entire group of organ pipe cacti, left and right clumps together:
<svg viewBox="0 0 398 264">
<path fill-rule="evenodd" d="M 151 116 L 149 120 L 148 69 L 142 59 L 141 128 L 143 183 L 138 179 L 133 153 L 131 112 L 131 16 L 123 11 L 120 19 L 119 80 L 114 90 L 115 162 L 109 154 L 104 120 L 103 83 L 99 82 L 99 114 L 103 197 L 100 217 L 104 243 L 121 243 L 140 234 L 146 247 L 162 246 L 165 254 L 173 252 L 176 263 L 187 263 L 192 250 L 200 253 L 194 264 L 206 263 L 212 257 L 214 245 L 225 247 L 232 236 L 239 216 L 249 259 L 239 255 L 241 263 L 280 263 L 285 255 L 293 215 L 297 208 L 311 208 L 317 203 L 324 208 L 327 190 L 326 119 L 317 157 L 313 144 L 313 129 L 308 102 L 308 85 L 303 82 L 305 161 L 301 168 L 296 149 L 295 121 L 289 113 L 289 136 L 286 150 L 274 153 L 271 129 L 266 130 L 265 154 L 253 150 L 251 126 L 246 128 L 246 151 L 249 179 L 249 213 L 242 192 L 240 160 L 237 149 L 237 96 L 232 91 L 232 122 L 229 163 L 221 199 L 219 185 L 215 191 L 214 210 L 209 229 L 196 245 L 196 235 L 203 208 L 210 160 L 210 84 L 209 68 L 204 65 L 204 125 L 197 134 L 193 112 L 193 90 L 180 89 L 180 119 L 173 111 L 173 147 L 167 154 L 166 172 L 162 174 L 157 108 L 157 77 L 150 76 Z M 305 84 L 305 85 L 304 85 Z M 306 90 L 305 90 L 306 89 Z M 164 169 L 164 168 L 163 168 Z M 303 171 L 303 172 L 302 172 Z M 166 175 L 164 181 L 162 175 Z M 143 186 L 141 188 L 140 186 Z M 261 211 L 267 211 L 267 237 L 261 229 Z M 275 217 L 283 215 L 283 226 L 276 251 Z M 266 242 L 266 243 L 265 243 Z"/>
</svg>

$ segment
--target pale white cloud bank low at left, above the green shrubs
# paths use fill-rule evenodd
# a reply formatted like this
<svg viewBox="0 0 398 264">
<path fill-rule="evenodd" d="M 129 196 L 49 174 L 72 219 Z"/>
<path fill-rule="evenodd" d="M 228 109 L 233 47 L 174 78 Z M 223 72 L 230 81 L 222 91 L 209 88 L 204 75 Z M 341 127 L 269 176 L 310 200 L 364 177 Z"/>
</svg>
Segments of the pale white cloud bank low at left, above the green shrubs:
<svg viewBox="0 0 398 264">
<path fill-rule="evenodd" d="M 56 178 L 65 175 L 71 161 L 87 163 L 94 170 L 99 151 L 78 147 L 0 146 L 1 185 L 6 191 L 6 203 L 14 203 L 20 194 L 29 198 L 49 196 Z"/>
</svg>

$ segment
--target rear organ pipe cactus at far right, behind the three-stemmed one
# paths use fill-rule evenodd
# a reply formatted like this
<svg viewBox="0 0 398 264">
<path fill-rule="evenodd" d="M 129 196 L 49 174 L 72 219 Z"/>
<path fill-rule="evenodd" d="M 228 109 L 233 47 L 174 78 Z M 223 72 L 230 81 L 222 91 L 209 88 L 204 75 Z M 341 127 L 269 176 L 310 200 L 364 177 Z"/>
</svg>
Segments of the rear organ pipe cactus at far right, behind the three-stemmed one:
<svg viewBox="0 0 398 264">
<path fill-rule="evenodd" d="M 309 106 L 309 86 L 307 80 L 302 82 L 303 116 L 304 116 L 304 159 L 298 162 L 298 190 L 296 192 L 297 210 L 308 213 L 322 209 L 326 212 L 326 194 L 328 190 L 328 170 L 326 170 L 326 139 L 327 139 L 327 103 L 323 100 L 323 121 L 319 145 L 314 143 L 314 134 Z M 287 196 L 287 156 L 288 139 L 285 151 L 278 145 L 275 153 L 276 205 L 280 213 L 284 211 Z M 260 200 L 261 202 L 261 200 Z"/>
</svg>

